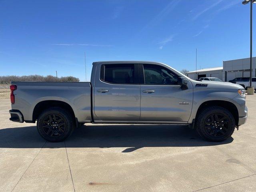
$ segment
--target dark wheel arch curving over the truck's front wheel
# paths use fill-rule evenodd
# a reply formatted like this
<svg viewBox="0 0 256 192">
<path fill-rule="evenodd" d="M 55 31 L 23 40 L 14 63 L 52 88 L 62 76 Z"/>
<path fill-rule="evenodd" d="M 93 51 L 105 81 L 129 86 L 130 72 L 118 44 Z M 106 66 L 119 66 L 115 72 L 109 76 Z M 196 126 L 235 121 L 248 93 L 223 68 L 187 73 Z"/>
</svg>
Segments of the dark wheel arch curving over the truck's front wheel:
<svg viewBox="0 0 256 192">
<path fill-rule="evenodd" d="M 209 100 L 209 101 L 203 102 L 202 104 L 200 104 L 200 106 L 196 112 L 196 118 L 198 118 L 198 115 L 200 114 L 200 112 L 202 110 L 204 110 L 207 107 L 211 107 L 211 106 L 220 106 L 220 107 L 223 107 L 223 108 L 226 108 L 227 110 L 229 110 L 231 112 L 231 114 L 234 116 L 236 126 L 238 125 L 239 116 L 238 116 L 238 109 L 237 109 L 236 105 L 233 104 L 232 102 L 224 101 L 224 100 Z"/>
</svg>

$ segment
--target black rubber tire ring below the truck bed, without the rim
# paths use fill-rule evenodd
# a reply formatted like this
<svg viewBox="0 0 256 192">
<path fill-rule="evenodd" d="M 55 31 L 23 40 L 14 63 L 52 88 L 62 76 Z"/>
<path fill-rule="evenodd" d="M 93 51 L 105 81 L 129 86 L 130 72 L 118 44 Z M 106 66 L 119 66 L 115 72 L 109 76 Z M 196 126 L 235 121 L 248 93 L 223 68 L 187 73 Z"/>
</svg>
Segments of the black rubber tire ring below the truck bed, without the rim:
<svg viewBox="0 0 256 192">
<path fill-rule="evenodd" d="M 48 116 L 49 114 L 56 114 L 56 115 L 60 116 L 61 118 L 63 118 L 63 120 L 66 124 L 66 129 L 60 136 L 51 137 L 51 136 L 48 136 L 44 132 L 44 130 L 42 128 L 42 125 L 43 125 L 42 122 L 43 122 L 44 118 L 46 116 Z M 72 129 L 74 127 L 70 113 L 68 113 L 66 110 L 64 110 L 62 108 L 57 108 L 57 107 L 53 107 L 53 108 L 44 110 L 38 117 L 36 126 L 37 126 L 37 130 L 38 130 L 39 134 L 42 136 L 42 138 L 44 138 L 45 140 L 50 141 L 50 142 L 60 142 L 60 141 L 65 140 L 71 134 Z"/>
</svg>

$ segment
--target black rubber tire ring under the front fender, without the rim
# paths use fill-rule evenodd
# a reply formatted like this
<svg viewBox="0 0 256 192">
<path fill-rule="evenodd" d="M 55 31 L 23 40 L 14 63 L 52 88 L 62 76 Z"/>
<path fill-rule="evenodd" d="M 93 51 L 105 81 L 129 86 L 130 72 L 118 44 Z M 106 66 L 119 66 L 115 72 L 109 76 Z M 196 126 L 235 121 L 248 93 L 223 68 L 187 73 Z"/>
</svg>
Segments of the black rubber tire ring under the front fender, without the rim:
<svg viewBox="0 0 256 192">
<path fill-rule="evenodd" d="M 229 123 L 228 123 L 228 131 L 223 136 L 220 136 L 220 137 L 210 136 L 206 132 L 206 130 L 204 128 L 204 124 L 205 124 L 206 118 L 208 116 L 210 116 L 211 114 L 213 114 L 213 113 L 224 114 L 224 115 L 226 115 L 228 117 L 228 121 L 229 121 Z M 219 141 L 226 140 L 227 138 L 229 138 L 233 134 L 234 129 L 235 129 L 234 116 L 227 109 L 222 108 L 222 107 L 218 107 L 218 106 L 209 107 L 209 108 L 206 108 L 206 109 L 202 110 L 200 112 L 197 120 L 196 120 L 196 130 L 197 130 L 198 134 L 200 136 L 202 136 L 202 138 L 204 138 L 206 140 L 210 140 L 210 141 L 219 142 Z"/>
</svg>

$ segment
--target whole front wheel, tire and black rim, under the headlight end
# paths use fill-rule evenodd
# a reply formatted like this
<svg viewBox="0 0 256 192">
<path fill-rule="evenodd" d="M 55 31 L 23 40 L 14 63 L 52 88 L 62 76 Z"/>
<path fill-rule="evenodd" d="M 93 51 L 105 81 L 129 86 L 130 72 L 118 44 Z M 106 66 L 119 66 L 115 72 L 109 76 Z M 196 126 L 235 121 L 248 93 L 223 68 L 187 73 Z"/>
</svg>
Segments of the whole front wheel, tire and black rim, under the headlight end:
<svg viewBox="0 0 256 192">
<path fill-rule="evenodd" d="M 200 112 L 195 126 L 198 134 L 205 140 L 220 142 L 233 134 L 235 119 L 227 109 L 212 106 Z"/>
</svg>

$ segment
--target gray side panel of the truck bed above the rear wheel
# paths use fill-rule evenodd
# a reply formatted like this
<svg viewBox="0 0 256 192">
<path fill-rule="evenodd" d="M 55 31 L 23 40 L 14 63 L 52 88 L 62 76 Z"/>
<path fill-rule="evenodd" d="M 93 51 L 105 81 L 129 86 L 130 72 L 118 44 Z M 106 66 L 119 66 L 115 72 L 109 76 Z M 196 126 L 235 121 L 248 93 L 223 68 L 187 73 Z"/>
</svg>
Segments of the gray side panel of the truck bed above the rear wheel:
<svg viewBox="0 0 256 192">
<path fill-rule="evenodd" d="M 34 122 L 33 110 L 40 102 L 66 102 L 71 106 L 78 122 L 91 122 L 90 82 L 12 82 L 13 110 L 20 110 L 25 122 Z M 42 103 L 41 103 L 42 104 Z"/>
</svg>

